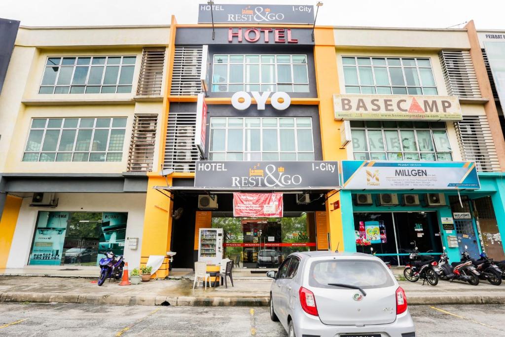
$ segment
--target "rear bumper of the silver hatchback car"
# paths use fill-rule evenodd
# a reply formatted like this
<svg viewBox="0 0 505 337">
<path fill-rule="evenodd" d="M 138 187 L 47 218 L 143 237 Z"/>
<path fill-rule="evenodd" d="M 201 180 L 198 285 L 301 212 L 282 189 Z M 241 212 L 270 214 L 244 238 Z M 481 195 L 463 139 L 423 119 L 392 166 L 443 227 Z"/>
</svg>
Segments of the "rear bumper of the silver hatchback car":
<svg viewBox="0 0 505 337">
<path fill-rule="evenodd" d="M 299 313 L 293 318 L 296 336 L 304 337 L 338 337 L 347 333 L 380 333 L 381 337 L 414 337 L 414 321 L 407 310 L 397 315 L 396 320 L 389 324 L 376 325 L 327 325 L 319 317 Z"/>
</svg>

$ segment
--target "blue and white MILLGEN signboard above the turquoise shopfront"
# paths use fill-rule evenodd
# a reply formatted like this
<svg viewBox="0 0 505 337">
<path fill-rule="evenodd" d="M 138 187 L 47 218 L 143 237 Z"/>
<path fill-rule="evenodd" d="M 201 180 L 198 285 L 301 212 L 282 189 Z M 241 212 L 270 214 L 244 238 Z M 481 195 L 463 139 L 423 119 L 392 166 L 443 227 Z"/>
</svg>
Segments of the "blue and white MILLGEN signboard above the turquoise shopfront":
<svg viewBox="0 0 505 337">
<path fill-rule="evenodd" d="M 474 162 L 342 161 L 344 189 L 479 189 Z"/>
</svg>

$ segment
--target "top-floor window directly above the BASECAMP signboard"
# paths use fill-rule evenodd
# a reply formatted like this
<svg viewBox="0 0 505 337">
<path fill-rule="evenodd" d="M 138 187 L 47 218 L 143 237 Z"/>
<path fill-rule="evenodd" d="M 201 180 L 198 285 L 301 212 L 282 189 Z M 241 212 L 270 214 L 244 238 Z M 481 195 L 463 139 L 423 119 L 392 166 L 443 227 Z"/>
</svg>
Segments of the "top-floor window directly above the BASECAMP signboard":
<svg viewBox="0 0 505 337">
<path fill-rule="evenodd" d="M 342 68 L 344 74 L 344 86 L 346 93 L 362 93 L 362 94 L 409 94 L 409 95 L 438 95 L 437 83 L 435 76 L 433 74 L 433 63 L 430 57 L 383 57 L 383 56 L 347 56 L 341 57 Z M 354 60 L 354 61 L 353 61 Z M 382 62 L 383 61 L 383 62 Z M 396 61 L 397 64 L 396 64 Z M 414 65 L 409 65 L 408 62 L 414 61 Z M 420 61 L 427 61 L 429 65 L 420 64 Z M 354 63 L 353 63 L 354 62 Z M 355 78 L 346 79 L 347 69 L 355 69 Z M 369 69 L 372 75 L 373 83 L 362 83 L 362 76 L 360 68 Z M 376 69 L 385 69 L 387 73 L 387 82 L 378 83 Z M 391 80 L 391 70 L 390 69 L 400 69 L 401 70 L 401 80 L 403 84 L 393 84 Z M 409 84 L 408 77 L 406 75 L 406 69 L 415 69 L 417 81 L 419 84 Z M 429 73 L 421 75 L 421 70 L 429 69 Z M 354 76 L 354 74 L 352 74 Z M 425 78 L 430 77 L 430 80 Z M 364 76 L 365 71 L 364 71 Z M 385 78 L 383 78 L 385 79 Z M 348 82 L 349 80 L 356 80 L 356 82 Z M 415 81 L 415 79 L 413 79 Z M 426 85 L 424 82 L 427 82 Z M 428 83 L 428 81 L 432 83 Z M 429 84 L 429 85 L 428 85 Z M 379 92 L 380 91 L 380 92 Z"/>
</svg>

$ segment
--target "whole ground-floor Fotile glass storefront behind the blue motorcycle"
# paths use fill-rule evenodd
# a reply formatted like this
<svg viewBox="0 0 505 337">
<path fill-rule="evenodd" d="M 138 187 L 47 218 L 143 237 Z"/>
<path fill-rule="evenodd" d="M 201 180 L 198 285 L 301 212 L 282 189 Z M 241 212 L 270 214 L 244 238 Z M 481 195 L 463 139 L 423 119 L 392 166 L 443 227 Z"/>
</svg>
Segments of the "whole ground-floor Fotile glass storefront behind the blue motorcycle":
<svg viewBox="0 0 505 337">
<path fill-rule="evenodd" d="M 97 266 L 98 252 L 123 255 L 127 219 L 128 213 L 41 211 L 28 264 Z"/>
</svg>

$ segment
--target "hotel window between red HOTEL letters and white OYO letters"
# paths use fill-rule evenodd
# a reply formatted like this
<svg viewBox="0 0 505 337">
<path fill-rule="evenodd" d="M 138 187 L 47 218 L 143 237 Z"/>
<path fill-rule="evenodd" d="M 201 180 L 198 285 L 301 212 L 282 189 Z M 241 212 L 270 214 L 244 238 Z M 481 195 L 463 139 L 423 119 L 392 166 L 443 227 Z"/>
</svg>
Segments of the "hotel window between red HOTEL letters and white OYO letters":
<svg viewBox="0 0 505 337">
<path fill-rule="evenodd" d="M 242 57 L 241 62 L 232 62 L 231 57 Z M 278 62 L 279 57 L 289 57 L 289 63 Z M 226 62 L 219 63 L 217 62 L 218 58 L 226 58 Z M 249 62 L 247 61 L 247 57 L 258 57 L 258 62 Z M 263 62 L 262 58 L 265 57 L 273 57 L 273 63 Z M 301 57 L 304 58 L 304 62 L 294 62 L 293 57 Z M 226 64 L 226 79 L 225 82 L 215 81 L 216 74 L 216 66 L 225 65 Z M 230 81 L 230 68 L 233 65 L 241 65 L 242 66 L 242 81 L 240 82 L 231 82 Z M 258 82 L 247 82 L 247 66 L 249 65 L 257 65 L 259 68 L 258 71 Z M 279 66 L 290 66 L 290 77 L 291 81 L 288 82 L 279 82 Z M 263 71 L 262 66 L 272 66 L 275 72 L 275 82 L 266 82 L 262 80 Z M 303 74 L 306 81 L 295 82 L 294 76 L 294 67 L 295 66 L 305 66 L 305 73 Z M 212 64 L 212 92 L 237 92 L 237 91 L 285 91 L 285 92 L 310 92 L 310 83 L 309 83 L 309 64 L 308 64 L 308 56 L 307 54 L 215 54 L 213 56 L 213 64 Z M 225 86 L 226 90 L 220 90 L 220 86 Z M 233 88 L 230 90 L 230 86 L 242 86 L 241 89 L 236 90 Z M 255 87 L 257 86 L 257 87 Z M 288 88 L 291 86 L 291 89 Z M 296 86 L 300 88 L 300 90 L 295 90 Z"/>
</svg>

